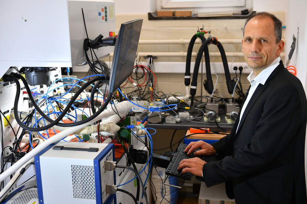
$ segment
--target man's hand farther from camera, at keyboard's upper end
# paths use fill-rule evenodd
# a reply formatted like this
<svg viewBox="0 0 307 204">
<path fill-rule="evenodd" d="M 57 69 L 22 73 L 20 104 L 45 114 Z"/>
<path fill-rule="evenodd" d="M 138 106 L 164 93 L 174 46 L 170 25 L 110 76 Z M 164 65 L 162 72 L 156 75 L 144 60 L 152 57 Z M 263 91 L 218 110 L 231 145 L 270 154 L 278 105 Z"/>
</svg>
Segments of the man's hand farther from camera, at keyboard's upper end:
<svg viewBox="0 0 307 204">
<path fill-rule="evenodd" d="M 201 150 L 194 152 L 195 156 L 198 156 L 198 155 L 210 156 L 210 155 L 216 154 L 216 151 L 212 147 L 212 145 L 202 140 L 197 141 L 197 142 L 190 142 L 190 144 L 185 148 L 185 152 L 187 152 L 187 154 L 190 154 L 191 152 L 193 152 L 194 149 L 197 149 L 197 148 L 201 148 Z"/>
</svg>

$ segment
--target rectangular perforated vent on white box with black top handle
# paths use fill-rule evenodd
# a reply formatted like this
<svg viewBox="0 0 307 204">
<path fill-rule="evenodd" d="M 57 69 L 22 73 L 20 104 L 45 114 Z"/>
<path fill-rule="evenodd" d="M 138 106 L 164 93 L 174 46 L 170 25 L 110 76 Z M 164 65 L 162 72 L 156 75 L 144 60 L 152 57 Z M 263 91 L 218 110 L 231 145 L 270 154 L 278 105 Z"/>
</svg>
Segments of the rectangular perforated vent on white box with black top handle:
<svg viewBox="0 0 307 204">
<path fill-rule="evenodd" d="M 73 197 L 96 200 L 93 166 L 71 165 Z"/>
</svg>

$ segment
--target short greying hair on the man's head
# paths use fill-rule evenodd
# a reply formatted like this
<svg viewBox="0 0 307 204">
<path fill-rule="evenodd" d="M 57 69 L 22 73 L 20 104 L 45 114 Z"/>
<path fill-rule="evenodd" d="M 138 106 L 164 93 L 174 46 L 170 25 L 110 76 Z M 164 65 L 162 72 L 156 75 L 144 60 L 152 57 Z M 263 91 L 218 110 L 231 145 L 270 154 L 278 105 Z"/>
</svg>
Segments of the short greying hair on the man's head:
<svg viewBox="0 0 307 204">
<path fill-rule="evenodd" d="M 276 44 L 281 41 L 281 36 L 282 36 L 282 22 L 281 20 L 279 20 L 276 16 L 274 16 L 273 14 L 271 13 L 268 13 L 268 12 L 258 12 L 258 13 L 255 13 L 255 14 L 252 14 L 251 16 L 249 16 L 246 21 L 245 21 L 245 24 L 244 24 L 244 27 L 243 27 L 243 37 L 244 37 L 244 31 L 245 31 L 245 26 L 246 24 L 254 17 L 269 17 L 273 20 L 274 22 L 274 35 L 276 37 Z"/>
</svg>

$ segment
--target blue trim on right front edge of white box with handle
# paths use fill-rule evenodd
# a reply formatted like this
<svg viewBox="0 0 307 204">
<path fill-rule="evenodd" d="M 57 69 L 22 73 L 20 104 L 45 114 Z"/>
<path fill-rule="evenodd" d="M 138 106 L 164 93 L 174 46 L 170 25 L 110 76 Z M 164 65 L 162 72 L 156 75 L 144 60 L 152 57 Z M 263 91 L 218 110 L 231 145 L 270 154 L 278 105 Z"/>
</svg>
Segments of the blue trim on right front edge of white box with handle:
<svg viewBox="0 0 307 204">
<path fill-rule="evenodd" d="M 111 150 L 113 152 L 113 161 L 114 161 L 114 144 L 112 143 L 108 144 L 107 147 L 105 147 L 93 160 L 94 161 L 95 191 L 96 191 L 96 203 L 97 204 L 102 203 L 100 162 Z M 108 200 L 111 201 L 110 196 L 107 197 L 106 201 Z"/>
</svg>

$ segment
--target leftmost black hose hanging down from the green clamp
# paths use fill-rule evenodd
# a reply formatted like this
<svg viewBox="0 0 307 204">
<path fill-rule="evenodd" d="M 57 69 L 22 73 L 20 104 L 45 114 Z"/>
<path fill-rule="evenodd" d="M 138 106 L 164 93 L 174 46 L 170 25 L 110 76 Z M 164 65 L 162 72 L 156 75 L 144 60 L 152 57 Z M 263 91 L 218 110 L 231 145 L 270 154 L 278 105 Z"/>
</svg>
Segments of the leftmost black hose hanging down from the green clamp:
<svg viewBox="0 0 307 204">
<path fill-rule="evenodd" d="M 185 62 L 185 86 L 190 85 L 190 78 L 191 78 L 190 67 L 191 67 L 192 50 L 193 50 L 193 46 L 194 46 L 194 43 L 197 37 L 201 39 L 201 42 L 206 41 L 206 38 L 204 37 L 202 33 L 196 33 L 195 35 L 193 35 L 193 37 L 190 40 L 187 55 L 186 55 L 186 62 Z"/>
</svg>

